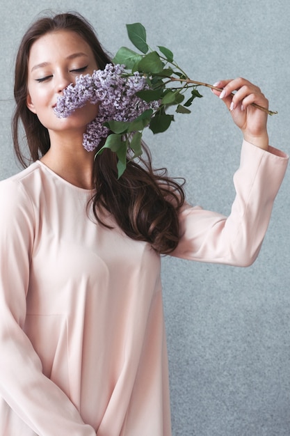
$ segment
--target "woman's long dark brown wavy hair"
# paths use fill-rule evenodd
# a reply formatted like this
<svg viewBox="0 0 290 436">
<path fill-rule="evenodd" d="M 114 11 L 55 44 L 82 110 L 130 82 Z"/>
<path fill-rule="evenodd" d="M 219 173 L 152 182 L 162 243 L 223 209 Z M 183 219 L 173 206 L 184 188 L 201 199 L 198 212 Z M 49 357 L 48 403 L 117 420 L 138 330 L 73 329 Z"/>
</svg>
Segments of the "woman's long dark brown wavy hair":
<svg viewBox="0 0 290 436">
<path fill-rule="evenodd" d="M 31 45 L 46 33 L 60 30 L 74 31 L 88 42 L 100 69 L 111 63 L 90 23 L 77 13 L 42 17 L 26 31 L 15 63 L 16 107 L 12 120 L 15 153 L 24 167 L 40 159 L 50 148 L 47 128 L 26 106 Z M 25 157 L 20 146 L 21 123 L 29 147 L 29 158 Z M 143 152 L 145 157 L 138 162 L 128 157 L 127 169 L 120 179 L 117 178 L 115 153 L 105 150 L 97 156 L 93 169 L 96 194 L 91 203 L 99 223 L 106 225 L 99 212 L 105 208 L 130 238 L 147 241 L 159 253 L 168 254 L 179 241 L 178 212 L 184 203 L 184 191 L 176 180 L 168 178 L 166 169 L 152 168 L 150 151 L 144 143 Z"/>
</svg>

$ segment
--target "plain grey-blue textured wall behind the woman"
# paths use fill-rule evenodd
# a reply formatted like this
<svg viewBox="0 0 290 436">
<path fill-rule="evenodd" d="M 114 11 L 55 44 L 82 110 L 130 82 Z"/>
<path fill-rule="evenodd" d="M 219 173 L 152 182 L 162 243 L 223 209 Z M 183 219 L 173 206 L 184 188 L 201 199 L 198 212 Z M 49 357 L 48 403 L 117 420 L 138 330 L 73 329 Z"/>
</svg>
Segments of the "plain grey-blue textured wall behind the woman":
<svg viewBox="0 0 290 436">
<path fill-rule="evenodd" d="M 268 120 L 271 144 L 290 152 L 288 0 L 8 3 L 0 3 L 0 179 L 19 171 L 10 138 L 16 47 L 46 9 L 78 10 L 111 54 L 129 45 L 125 24 L 142 22 L 151 45 L 172 49 L 192 79 L 250 79 L 279 112 Z M 191 115 L 146 140 L 156 166 L 186 177 L 191 202 L 228 214 L 241 133 L 223 102 L 200 91 Z M 288 171 L 252 267 L 163 259 L 175 436 L 290 435 L 289 202 Z"/>
</svg>

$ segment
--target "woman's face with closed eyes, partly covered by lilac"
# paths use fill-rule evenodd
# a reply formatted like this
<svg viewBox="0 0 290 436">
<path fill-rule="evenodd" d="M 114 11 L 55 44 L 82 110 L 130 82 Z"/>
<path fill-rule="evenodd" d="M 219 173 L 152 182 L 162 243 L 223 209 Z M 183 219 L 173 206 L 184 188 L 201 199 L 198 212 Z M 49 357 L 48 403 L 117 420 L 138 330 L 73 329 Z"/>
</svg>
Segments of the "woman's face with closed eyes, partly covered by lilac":
<svg viewBox="0 0 290 436">
<path fill-rule="evenodd" d="M 51 132 L 81 130 L 97 116 L 97 106 L 90 103 L 68 118 L 54 113 L 58 95 L 75 83 L 76 77 L 92 74 L 97 63 L 88 43 L 73 31 L 47 33 L 33 42 L 28 63 L 27 107 Z"/>
</svg>

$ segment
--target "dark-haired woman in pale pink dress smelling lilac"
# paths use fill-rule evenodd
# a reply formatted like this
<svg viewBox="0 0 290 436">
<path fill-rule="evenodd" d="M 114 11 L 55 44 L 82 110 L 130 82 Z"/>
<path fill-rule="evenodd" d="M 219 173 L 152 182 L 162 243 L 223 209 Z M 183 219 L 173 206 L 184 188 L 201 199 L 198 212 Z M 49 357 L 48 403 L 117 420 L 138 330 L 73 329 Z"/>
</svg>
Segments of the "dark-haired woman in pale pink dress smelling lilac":
<svg viewBox="0 0 290 436">
<path fill-rule="evenodd" d="M 160 254 L 250 265 L 287 167 L 251 105 L 266 98 L 240 78 L 214 91 L 244 138 L 229 217 L 184 203 L 149 155 L 117 180 L 109 150 L 94 161 L 82 146 L 97 106 L 54 114 L 109 61 L 71 14 L 38 20 L 19 47 L 15 150 L 25 163 L 22 120 L 33 163 L 0 183 L 1 435 L 170 436 Z"/>
</svg>

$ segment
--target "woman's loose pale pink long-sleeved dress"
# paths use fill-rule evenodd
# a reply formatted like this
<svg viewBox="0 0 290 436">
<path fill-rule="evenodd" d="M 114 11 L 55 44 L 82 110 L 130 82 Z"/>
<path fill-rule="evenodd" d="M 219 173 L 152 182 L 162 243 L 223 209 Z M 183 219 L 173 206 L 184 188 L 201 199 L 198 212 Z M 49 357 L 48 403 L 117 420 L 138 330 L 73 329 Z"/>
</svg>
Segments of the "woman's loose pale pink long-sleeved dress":
<svg viewBox="0 0 290 436">
<path fill-rule="evenodd" d="M 229 218 L 186 206 L 174 255 L 246 266 L 287 156 L 243 143 Z M 160 257 L 41 162 L 0 183 L 0 435 L 170 436 Z M 113 224 L 113 220 L 108 218 Z"/>
</svg>

